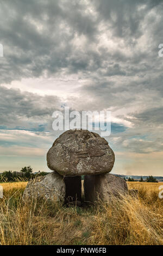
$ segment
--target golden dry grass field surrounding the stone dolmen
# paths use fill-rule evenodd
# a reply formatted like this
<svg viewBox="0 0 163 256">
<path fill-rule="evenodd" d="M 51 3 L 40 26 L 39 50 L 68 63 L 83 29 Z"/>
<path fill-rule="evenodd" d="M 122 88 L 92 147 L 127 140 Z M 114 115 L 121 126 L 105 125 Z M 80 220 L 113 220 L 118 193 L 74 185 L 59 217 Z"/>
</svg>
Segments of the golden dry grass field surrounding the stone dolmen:
<svg viewBox="0 0 163 256">
<path fill-rule="evenodd" d="M 139 198 L 126 195 L 90 208 L 23 203 L 27 182 L 0 184 L 0 245 L 163 245 L 163 182 L 127 183 Z"/>
</svg>

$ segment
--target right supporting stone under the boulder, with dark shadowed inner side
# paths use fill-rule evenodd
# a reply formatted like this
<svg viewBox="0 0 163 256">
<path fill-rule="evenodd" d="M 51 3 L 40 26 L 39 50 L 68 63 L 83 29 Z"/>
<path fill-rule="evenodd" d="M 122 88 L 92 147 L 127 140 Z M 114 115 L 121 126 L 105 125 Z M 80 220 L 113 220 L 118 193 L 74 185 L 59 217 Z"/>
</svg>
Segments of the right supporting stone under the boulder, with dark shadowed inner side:
<svg viewBox="0 0 163 256">
<path fill-rule="evenodd" d="M 84 176 L 86 202 L 95 203 L 98 200 L 109 202 L 112 197 L 124 195 L 127 191 L 126 181 L 110 173 Z"/>
</svg>

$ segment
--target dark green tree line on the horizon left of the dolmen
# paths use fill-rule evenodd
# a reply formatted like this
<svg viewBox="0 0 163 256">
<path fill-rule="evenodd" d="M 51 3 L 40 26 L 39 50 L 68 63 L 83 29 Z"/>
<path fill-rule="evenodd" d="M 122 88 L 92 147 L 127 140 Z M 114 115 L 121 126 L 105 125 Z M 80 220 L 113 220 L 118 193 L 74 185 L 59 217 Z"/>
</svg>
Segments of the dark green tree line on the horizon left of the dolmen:
<svg viewBox="0 0 163 256">
<path fill-rule="evenodd" d="M 20 172 L 5 171 L 0 174 L 0 182 L 28 181 L 36 178 L 36 176 L 44 176 L 47 172 L 33 173 L 31 166 L 23 167 Z"/>
</svg>

